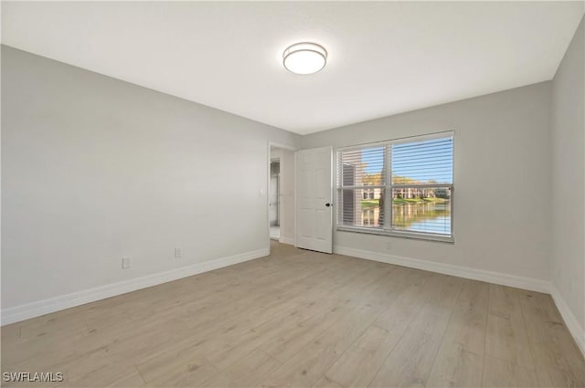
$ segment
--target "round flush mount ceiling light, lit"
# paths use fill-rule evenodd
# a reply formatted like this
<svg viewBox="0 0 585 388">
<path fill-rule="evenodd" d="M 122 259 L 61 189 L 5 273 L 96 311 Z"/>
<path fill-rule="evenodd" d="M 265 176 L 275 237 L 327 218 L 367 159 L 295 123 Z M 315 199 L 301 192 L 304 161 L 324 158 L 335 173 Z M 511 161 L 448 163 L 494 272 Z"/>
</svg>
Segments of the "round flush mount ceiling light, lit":
<svg viewBox="0 0 585 388">
<path fill-rule="evenodd" d="M 295 43 L 284 50 L 282 64 L 295 74 L 313 74 L 325 67 L 327 50 L 316 43 Z"/>
</svg>

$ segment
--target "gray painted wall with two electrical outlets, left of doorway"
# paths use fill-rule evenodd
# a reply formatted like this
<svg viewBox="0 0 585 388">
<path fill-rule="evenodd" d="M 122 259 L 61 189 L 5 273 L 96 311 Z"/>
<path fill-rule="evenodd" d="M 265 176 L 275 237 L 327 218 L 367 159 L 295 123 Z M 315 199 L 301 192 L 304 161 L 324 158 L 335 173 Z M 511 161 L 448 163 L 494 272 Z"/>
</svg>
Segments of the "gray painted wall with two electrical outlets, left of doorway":
<svg viewBox="0 0 585 388">
<path fill-rule="evenodd" d="M 298 135 L 4 46 L 2 80 L 3 309 L 268 248 Z"/>
</svg>

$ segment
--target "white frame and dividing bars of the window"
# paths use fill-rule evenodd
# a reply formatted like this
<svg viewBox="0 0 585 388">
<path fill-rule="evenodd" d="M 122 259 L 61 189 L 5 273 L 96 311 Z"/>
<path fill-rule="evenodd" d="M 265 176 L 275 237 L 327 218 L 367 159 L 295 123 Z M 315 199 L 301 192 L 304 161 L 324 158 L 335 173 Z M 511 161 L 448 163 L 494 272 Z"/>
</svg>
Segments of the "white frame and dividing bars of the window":
<svg viewBox="0 0 585 388">
<path fill-rule="evenodd" d="M 393 144 L 400 144 L 405 142 L 421 142 L 427 141 L 432 139 L 440 139 L 445 137 L 452 137 L 453 142 L 453 165 L 452 165 L 452 183 L 451 184 L 392 184 L 392 154 L 391 145 Z M 341 153 L 347 151 L 354 151 L 354 150 L 363 150 L 365 148 L 374 148 L 374 147 L 386 147 L 386 160 L 385 163 L 385 172 L 386 172 L 386 184 L 385 185 L 361 185 L 361 186 L 343 186 L 341 182 Z M 338 147 L 336 150 L 336 180 L 337 180 L 337 201 L 336 201 L 336 208 L 335 208 L 335 225 L 336 230 L 343 231 L 343 232 L 356 232 L 356 233 L 366 233 L 371 235 L 382 235 L 382 236 L 396 236 L 396 237 L 406 237 L 406 238 L 417 238 L 422 240 L 431 240 L 431 241 L 440 241 L 445 243 L 454 243 L 455 242 L 455 234 L 454 234 L 454 212 L 453 212 L 453 204 L 454 204 L 454 193 L 455 193 L 455 131 L 441 131 L 435 132 L 425 135 L 419 136 L 411 136 L 406 138 L 399 138 L 399 139 L 392 139 L 383 142 L 368 142 L 363 144 L 351 145 L 347 147 Z M 434 188 L 448 188 L 451 191 L 451 235 L 445 236 L 441 234 L 434 234 L 429 232 L 415 232 L 415 231 L 405 231 L 399 229 L 392 228 L 392 202 L 393 202 L 393 189 L 396 188 L 425 188 L 425 187 L 434 187 Z M 384 225 L 384 227 L 364 227 L 364 226 L 348 226 L 348 225 L 339 225 L 338 215 L 339 215 L 339 205 L 341 201 L 339 200 L 340 195 L 342 194 L 343 190 L 358 190 L 358 189 L 375 189 L 379 188 L 384 192 L 384 216 L 385 219 L 389 220 L 389 225 Z M 363 195 L 363 194 L 362 194 Z M 389 199 L 389 200 L 388 200 Z"/>
</svg>

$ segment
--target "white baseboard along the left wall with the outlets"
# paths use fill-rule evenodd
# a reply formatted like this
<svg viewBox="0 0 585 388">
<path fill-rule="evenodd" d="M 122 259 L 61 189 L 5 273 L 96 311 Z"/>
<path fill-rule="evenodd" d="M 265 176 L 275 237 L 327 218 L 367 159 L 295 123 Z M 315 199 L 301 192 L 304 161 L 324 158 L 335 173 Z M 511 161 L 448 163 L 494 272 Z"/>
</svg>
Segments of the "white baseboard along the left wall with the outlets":
<svg viewBox="0 0 585 388">
<path fill-rule="evenodd" d="M 212 271 L 221 267 L 228 267 L 244 261 L 269 255 L 269 248 L 258 249 L 230 257 L 221 257 L 214 260 L 207 260 L 187 267 L 171 269 L 158 274 L 147 275 L 142 278 L 133 278 L 106 286 L 84 289 L 61 295 L 54 298 L 38 300 L 24 305 L 2 309 L 2 325 L 28 320 L 29 318 L 55 312 L 61 309 L 69 309 L 82 304 L 90 303 L 100 299 L 115 297 L 126 292 L 135 291 L 140 288 L 156 286 L 157 284 L 179 278 L 187 278 L 202 272 Z"/>
</svg>

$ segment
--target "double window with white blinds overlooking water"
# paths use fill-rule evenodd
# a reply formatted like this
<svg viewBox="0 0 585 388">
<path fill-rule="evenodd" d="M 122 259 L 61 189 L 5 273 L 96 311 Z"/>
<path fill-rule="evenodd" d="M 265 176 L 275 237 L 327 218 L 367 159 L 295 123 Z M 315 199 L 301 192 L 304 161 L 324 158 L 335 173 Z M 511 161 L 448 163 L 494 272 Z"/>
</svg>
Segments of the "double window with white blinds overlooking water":
<svg viewBox="0 0 585 388">
<path fill-rule="evenodd" d="M 339 230 L 453 241 L 452 132 L 342 148 L 337 162 Z"/>
</svg>

